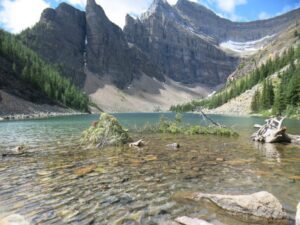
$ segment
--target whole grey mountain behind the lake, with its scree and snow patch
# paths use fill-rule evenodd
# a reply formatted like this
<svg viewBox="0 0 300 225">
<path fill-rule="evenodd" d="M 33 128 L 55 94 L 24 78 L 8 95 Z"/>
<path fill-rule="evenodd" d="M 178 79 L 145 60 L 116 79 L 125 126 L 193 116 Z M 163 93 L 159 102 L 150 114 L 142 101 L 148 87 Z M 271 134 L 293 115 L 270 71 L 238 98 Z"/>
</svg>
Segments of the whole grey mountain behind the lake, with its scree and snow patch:
<svg viewBox="0 0 300 225">
<path fill-rule="evenodd" d="M 139 18 L 127 15 L 122 30 L 88 0 L 85 12 L 66 3 L 46 9 L 18 38 L 104 110 L 153 111 L 218 89 L 298 19 L 300 9 L 238 23 L 188 0 L 154 0 Z"/>
</svg>

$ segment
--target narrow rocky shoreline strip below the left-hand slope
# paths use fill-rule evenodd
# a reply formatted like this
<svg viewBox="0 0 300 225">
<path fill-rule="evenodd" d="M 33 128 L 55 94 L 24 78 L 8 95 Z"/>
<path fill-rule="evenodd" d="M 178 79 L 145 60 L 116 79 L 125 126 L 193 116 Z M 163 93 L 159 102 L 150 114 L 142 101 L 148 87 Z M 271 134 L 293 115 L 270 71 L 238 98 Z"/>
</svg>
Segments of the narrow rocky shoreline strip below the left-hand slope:
<svg viewBox="0 0 300 225">
<path fill-rule="evenodd" d="M 30 119 L 45 119 L 63 116 L 76 116 L 76 115 L 87 115 L 89 113 L 83 112 L 38 112 L 29 114 L 9 114 L 0 116 L 0 122 L 2 121 L 14 121 L 14 120 L 30 120 Z"/>
</svg>

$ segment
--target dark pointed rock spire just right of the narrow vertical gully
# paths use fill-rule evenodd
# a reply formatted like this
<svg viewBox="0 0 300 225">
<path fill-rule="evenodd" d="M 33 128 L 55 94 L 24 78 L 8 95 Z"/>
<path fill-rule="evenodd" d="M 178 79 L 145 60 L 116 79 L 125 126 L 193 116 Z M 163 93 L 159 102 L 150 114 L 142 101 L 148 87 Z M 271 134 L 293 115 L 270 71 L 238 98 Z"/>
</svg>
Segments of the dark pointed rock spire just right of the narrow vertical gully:
<svg viewBox="0 0 300 225">
<path fill-rule="evenodd" d="M 109 76 L 121 88 L 143 74 L 164 80 L 143 52 L 128 45 L 123 31 L 109 21 L 94 0 L 87 1 L 86 26 L 86 62 L 90 71 Z"/>
</svg>

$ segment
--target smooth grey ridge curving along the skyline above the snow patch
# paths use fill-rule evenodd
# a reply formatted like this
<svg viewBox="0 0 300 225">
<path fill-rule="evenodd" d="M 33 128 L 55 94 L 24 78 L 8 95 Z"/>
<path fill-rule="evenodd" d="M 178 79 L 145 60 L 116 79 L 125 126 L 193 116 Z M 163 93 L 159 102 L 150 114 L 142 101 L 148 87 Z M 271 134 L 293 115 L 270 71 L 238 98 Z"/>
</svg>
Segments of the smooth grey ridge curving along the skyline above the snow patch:
<svg viewBox="0 0 300 225">
<path fill-rule="evenodd" d="M 299 9 L 268 20 L 238 23 L 221 18 L 207 8 L 188 0 L 178 0 L 174 8 L 197 33 L 206 34 L 217 42 L 257 40 L 277 34 L 300 19 Z"/>
</svg>

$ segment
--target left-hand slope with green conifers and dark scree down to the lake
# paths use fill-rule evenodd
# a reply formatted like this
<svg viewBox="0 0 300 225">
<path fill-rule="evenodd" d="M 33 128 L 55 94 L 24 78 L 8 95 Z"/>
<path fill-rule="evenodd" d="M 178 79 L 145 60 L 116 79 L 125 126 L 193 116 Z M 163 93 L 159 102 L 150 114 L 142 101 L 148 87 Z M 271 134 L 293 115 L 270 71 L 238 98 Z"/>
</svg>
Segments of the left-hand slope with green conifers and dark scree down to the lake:
<svg viewBox="0 0 300 225">
<path fill-rule="evenodd" d="M 0 116 L 88 110 L 88 97 L 50 64 L 0 30 Z M 70 107 L 70 108 L 69 108 Z"/>
</svg>

